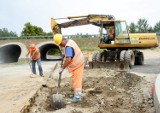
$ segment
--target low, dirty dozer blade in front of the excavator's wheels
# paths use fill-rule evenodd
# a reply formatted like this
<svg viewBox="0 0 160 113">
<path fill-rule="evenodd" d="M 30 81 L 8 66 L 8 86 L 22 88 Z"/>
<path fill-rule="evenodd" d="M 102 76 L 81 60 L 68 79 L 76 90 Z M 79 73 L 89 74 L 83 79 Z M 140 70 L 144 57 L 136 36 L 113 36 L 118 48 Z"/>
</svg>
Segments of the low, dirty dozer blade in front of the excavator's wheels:
<svg viewBox="0 0 160 113">
<path fill-rule="evenodd" d="M 89 62 L 89 68 L 106 68 L 115 71 L 129 71 L 130 67 L 128 62 L 118 61 L 118 62 Z"/>
</svg>

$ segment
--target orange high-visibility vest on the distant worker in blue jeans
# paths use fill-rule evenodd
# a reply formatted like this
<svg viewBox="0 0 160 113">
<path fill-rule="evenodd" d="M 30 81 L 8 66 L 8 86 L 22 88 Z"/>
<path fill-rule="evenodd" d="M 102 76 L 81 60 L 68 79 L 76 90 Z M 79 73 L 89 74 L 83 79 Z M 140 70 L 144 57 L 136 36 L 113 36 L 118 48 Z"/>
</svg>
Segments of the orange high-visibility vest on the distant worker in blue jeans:
<svg viewBox="0 0 160 113">
<path fill-rule="evenodd" d="M 33 60 L 38 60 L 41 57 L 38 48 L 35 48 L 35 49 L 30 48 L 29 52 L 30 52 L 30 56 L 32 57 Z"/>
</svg>

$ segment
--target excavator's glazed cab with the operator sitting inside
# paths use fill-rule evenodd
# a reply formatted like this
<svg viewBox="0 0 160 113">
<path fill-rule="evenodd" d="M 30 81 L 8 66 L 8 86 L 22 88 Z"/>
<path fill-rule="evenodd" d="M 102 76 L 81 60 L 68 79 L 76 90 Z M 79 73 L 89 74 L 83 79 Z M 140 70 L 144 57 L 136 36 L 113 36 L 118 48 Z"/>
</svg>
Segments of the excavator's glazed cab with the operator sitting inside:
<svg viewBox="0 0 160 113">
<path fill-rule="evenodd" d="M 104 21 L 100 27 L 100 44 L 129 44 L 125 21 Z"/>
</svg>

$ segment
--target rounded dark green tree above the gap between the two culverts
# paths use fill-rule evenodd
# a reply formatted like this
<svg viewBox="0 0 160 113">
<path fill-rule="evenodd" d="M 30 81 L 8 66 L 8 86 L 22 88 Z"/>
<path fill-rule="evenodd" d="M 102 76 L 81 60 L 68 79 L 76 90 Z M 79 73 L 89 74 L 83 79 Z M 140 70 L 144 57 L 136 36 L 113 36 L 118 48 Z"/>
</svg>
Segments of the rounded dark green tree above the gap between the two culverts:
<svg viewBox="0 0 160 113">
<path fill-rule="evenodd" d="M 25 24 L 21 32 L 21 36 L 45 36 L 45 34 L 41 27 L 31 25 L 29 22 Z"/>
</svg>

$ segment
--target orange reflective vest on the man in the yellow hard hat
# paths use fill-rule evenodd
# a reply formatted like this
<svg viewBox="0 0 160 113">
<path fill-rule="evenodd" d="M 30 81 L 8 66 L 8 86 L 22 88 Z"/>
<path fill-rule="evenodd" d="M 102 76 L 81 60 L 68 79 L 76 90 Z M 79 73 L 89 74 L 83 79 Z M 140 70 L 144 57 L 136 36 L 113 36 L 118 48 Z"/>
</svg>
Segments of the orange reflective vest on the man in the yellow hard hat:
<svg viewBox="0 0 160 113">
<path fill-rule="evenodd" d="M 84 57 L 78 45 L 73 40 L 70 40 L 70 39 L 68 40 L 64 49 L 65 57 L 66 57 L 67 46 L 72 47 L 74 50 L 74 57 L 72 58 L 71 63 L 68 65 L 68 71 L 72 72 L 78 67 L 80 67 L 82 64 L 84 64 Z"/>
</svg>

